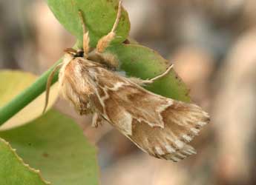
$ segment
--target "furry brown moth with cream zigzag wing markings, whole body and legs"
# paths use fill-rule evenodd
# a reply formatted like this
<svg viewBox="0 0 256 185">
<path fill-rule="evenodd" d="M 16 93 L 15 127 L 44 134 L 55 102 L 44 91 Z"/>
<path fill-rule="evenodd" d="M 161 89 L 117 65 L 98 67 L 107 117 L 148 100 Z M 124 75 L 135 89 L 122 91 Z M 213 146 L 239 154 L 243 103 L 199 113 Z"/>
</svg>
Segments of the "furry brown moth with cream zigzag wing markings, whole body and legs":
<svg viewBox="0 0 256 185">
<path fill-rule="evenodd" d="M 165 98 L 143 88 L 167 75 L 172 66 L 148 80 L 116 73 L 118 61 L 104 51 L 116 37 L 121 13 L 122 2 L 119 1 L 112 30 L 99 39 L 96 48 L 90 48 L 85 21 L 79 12 L 83 49 L 65 50 L 62 64 L 48 78 L 45 108 L 50 82 L 59 70 L 59 91 L 80 115 L 93 114 L 93 127 L 106 121 L 149 155 L 180 161 L 196 153 L 188 143 L 209 122 L 209 115 L 195 104 Z"/>
</svg>

